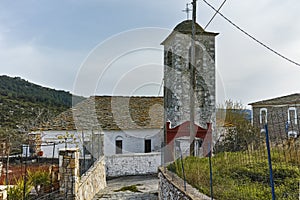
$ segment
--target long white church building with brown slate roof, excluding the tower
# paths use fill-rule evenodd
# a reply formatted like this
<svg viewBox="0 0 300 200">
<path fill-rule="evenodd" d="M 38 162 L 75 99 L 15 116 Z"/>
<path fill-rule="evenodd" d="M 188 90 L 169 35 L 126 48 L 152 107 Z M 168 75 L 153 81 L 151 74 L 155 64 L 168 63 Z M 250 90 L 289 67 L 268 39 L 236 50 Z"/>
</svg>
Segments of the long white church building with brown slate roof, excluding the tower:
<svg viewBox="0 0 300 200">
<path fill-rule="evenodd" d="M 68 147 L 79 147 L 81 156 L 84 149 L 94 158 L 104 155 L 108 176 L 156 173 L 161 164 L 163 98 L 90 97 L 45 124 L 41 132 L 43 156 L 57 157 L 67 141 Z"/>
</svg>

